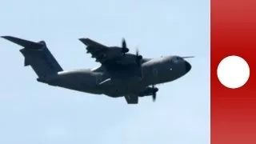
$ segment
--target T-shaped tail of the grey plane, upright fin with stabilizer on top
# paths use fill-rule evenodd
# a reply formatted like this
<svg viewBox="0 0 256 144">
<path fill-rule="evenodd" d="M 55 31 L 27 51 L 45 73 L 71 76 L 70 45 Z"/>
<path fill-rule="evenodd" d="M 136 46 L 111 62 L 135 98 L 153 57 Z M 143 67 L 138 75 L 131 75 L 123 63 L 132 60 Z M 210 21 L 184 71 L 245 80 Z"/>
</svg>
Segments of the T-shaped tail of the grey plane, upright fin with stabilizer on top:
<svg viewBox="0 0 256 144">
<path fill-rule="evenodd" d="M 48 79 L 56 76 L 62 67 L 58 64 L 54 56 L 46 46 L 46 42 L 30 42 L 21 38 L 2 36 L 24 48 L 20 52 L 25 57 L 24 66 L 31 66 L 39 79 Z"/>
</svg>

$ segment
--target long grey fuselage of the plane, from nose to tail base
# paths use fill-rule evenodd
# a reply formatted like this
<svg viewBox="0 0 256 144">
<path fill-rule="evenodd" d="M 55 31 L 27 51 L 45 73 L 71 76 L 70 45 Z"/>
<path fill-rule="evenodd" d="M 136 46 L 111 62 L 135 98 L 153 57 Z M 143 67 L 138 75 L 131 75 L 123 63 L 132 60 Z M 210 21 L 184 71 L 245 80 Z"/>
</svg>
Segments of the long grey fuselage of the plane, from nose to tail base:
<svg viewBox="0 0 256 144">
<path fill-rule="evenodd" d="M 129 74 L 123 74 L 125 77 L 118 76 L 107 70 L 86 69 L 59 72 L 57 77 L 46 83 L 90 94 L 106 94 L 114 98 L 138 94 L 146 86 L 174 81 L 190 71 L 190 63 L 177 58 L 179 57 L 168 56 L 142 63 L 142 78 Z"/>
</svg>

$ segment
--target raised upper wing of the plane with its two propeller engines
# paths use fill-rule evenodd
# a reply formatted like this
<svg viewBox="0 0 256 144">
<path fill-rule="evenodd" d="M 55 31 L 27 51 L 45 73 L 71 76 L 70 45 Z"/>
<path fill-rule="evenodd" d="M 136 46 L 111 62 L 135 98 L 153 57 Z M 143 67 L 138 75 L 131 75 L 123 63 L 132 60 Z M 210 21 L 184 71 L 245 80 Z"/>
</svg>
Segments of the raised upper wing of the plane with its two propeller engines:
<svg viewBox="0 0 256 144">
<path fill-rule="evenodd" d="M 128 54 L 126 40 L 122 38 L 122 46 L 104 46 L 89 38 L 79 38 L 86 45 L 87 53 L 91 54 L 96 62 L 100 62 L 110 75 L 136 76 L 142 78 L 142 55 Z"/>
</svg>

